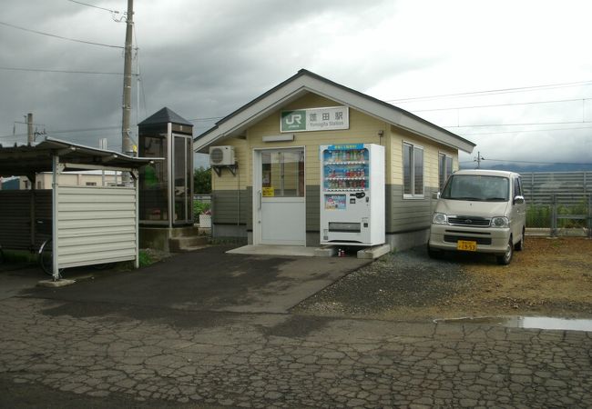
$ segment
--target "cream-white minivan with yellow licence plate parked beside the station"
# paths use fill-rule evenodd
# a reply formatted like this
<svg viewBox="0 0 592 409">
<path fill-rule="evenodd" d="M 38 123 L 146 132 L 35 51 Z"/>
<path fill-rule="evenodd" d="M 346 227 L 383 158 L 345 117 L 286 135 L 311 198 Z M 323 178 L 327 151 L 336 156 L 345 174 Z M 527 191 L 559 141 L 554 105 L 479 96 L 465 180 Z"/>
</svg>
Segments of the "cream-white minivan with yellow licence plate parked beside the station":
<svg viewBox="0 0 592 409">
<path fill-rule="evenodd" d="M 526 203 L 520 175 L 458 171 L 437 196 L 427 243 L 431 257 L 444 251 L 479 252 L 510 264 L 514 250 L 524 249 Z"/>
</svg>

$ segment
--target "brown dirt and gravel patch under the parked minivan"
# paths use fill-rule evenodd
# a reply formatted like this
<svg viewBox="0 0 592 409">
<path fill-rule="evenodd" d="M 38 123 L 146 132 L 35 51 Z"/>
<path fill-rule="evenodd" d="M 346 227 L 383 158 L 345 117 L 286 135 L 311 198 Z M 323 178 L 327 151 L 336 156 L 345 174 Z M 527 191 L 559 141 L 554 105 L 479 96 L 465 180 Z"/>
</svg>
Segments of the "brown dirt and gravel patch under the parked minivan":
<svg viewBox="0 0 592 409">
<path fill-rule="evenodd" d="M 592 240 L 528 237 L 510 265 L 484 254 L 389 254 L 315 294 L 298 314 L 391 320 L 462 316 L 592 317 Z"/>
</svg>

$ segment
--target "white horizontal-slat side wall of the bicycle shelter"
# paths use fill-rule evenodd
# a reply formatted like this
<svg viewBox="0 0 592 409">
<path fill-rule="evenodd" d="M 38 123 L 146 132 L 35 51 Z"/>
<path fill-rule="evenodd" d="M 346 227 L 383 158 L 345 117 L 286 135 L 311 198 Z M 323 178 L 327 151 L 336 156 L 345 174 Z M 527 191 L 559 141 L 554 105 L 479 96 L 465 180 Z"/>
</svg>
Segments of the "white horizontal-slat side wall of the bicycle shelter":
<svg viewBox="0 0 592 409">
<path fill-rule="evenodd" d="M 134 188 L 60 186 L 57 200 L 60 268 L 136 259 Z"/>
</svg>

